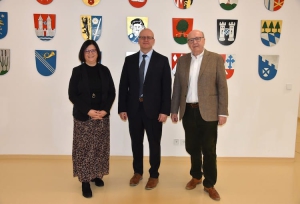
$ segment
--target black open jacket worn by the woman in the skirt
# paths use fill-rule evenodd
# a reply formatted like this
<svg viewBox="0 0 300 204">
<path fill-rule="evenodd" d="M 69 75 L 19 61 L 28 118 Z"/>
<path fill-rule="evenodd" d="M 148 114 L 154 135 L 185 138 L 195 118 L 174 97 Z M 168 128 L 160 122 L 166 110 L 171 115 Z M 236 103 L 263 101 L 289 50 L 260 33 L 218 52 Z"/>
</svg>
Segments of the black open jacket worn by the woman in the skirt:
<svg viewBox="0 0 300 204">
<path fill-rule="evenodd" d="M 74 104 L 73 116 L 77 120 L 89 119 L 88 112 L 91 110 L 91 93 L 85 63 L 73 68 L 69 83 L 69 99 Z M 110 114 L 111 106 L 115 100 L 116 91 L 110 71 L 102 64 L 95 67 L 99 71 L 102 86 L 101 110 Z"/>
</svg>

